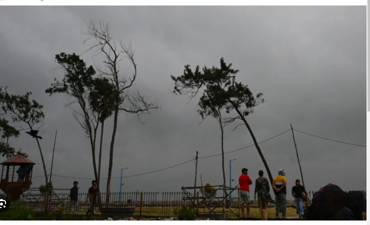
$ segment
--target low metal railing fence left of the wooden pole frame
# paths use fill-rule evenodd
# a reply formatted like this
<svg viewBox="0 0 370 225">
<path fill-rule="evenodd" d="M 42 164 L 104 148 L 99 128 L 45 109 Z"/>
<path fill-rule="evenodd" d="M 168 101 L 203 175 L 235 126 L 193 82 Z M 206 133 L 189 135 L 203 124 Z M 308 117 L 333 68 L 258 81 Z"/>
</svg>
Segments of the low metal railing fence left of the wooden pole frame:
<svg viewBox="0 0 370 225">
<path fill-rule="evenodd" d="M 78 211 L 87 212 L 89 203 L 87 193 L 78 195 Z M 134 213 L 158 215 L 173 215 L 175 209 L 190 203 L 182 201 L 182 192 L 123 192 L 111 193 L 108 205 L 106 205 L 106 193 L 101 193 L 101 201 L 96 202 L 94 211 L 100 208 L 134 208 Z M 98 198 L 99 199 L 99 198 Z M 26 192 L 21 196 L 19 206 L 29 207 L 35 212 L 59 212 L 65 213 L 69 210 L 69 193 L 53 193 L 49 196 L 41 193 Z M 72 207 L 73 208 L 73 207 Z M 72 209 L 73 212 L 73 209 Z"/>
</svg>

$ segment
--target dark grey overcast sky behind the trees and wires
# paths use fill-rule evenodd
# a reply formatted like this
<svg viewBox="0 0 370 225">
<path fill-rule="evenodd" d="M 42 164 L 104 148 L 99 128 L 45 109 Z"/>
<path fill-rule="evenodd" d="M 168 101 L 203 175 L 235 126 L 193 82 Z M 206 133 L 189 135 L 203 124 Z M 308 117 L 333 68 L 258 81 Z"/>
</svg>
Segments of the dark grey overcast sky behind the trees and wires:
<svg viewBox="0 0 370 225">
<path fill-rule="evenodd" d="M 161 111 L 143 117 L 120 114 L 115 142 L 113 177 L 135 175 L 176 165 L 195 157 L 221 153 L 217 121 L 201 125 L 196 112 L 199 97 L 190 104 L 172 94 L 170 75 L 182 75 L 185 64 L 193 68 L 219 66 L 221 57 L 241 72 L 238 80 L 268 100 L 256 107 L 247 120 L 262 141 L 290 128 L 366 145 L 366 6 L 239 6 L 239 7 L 10 7 L 0 8 L 0 86 L 12 94 L 33 93 L 44 105 L 46 133 L 41 146 L 50 171 L 55 130 L 58 137 L 53 173 L 91 178 L 53 177 L 55 188 L 70 188 L 79 181 L 87 191 L 94 178 L 89 140 L 64 108 L 65 97 L 49 97 L 45 89 L 63 71 L 55 70 L 60 52 L 81 54 L 81 31 L 92 18 L 111 23 L 114 38 L 130 41 L 136 51 L 138 79 L 135 87 Z M 93 52 L 83 54 L 93 64 Z M 130 75 L 129 64 L 121 71 Z M 102 177 L 108 175 L 109 145 L 113 118 L 106 123 Z M 226 128 L 225 150 L 251 145 L 245 127 Z M 295 132 L 307 190 L 334 183 L 344 190 L 366 190 L 366 148 L 328 141 Z M 99 143 L 99 142 L 98 142 Z M 33 176 L 43 169 L 36 141 L 22 133 L 11 145 L 36 163 Z M 288 187 L 300 179 L 291 132 L 260 144 L 273 176 L 283 168 Z M 221 185 L 221 156 L 200 159 L 198 184 Z M 250 147 L 225 155 L 229 183 L 229 160 L 233 161 L 233 186 L 241 169 L 253 180 L 266 171 Z M 3 161 L 3 159 L 1 159 Z M 49 173 L 49 172 L 48 172 Z M 124 191 L 181 191 L 194 185 L 195 164 L 143 176 L 124 178 Z M 265 173 L 266 177 L 267 174 Z M 44 179 L 35 178 L 32 187 Z M 119 191 L 120 179 L 112 180 Z M 102 181 L 105 191 L 106 180 Z M 254 184 L 251 186 L 254 190 Z"/>
</svg>

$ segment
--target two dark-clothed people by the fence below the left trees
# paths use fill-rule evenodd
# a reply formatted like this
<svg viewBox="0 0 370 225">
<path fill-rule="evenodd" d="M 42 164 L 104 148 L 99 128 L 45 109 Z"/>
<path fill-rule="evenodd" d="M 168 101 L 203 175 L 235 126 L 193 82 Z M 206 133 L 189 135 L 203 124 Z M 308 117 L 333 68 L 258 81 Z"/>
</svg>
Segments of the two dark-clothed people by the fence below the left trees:
<svg viewBox="0 0 370 225">
<path fill-rule="evenodd" d="M 97 182 L 96 180 L 93 180 L 91 182 L 92 186 L 89 188 L 88 195 L 86 197 L 86 202 L 89 203 L 89 209 L 86 213 L 86 215 L 94 215 L 94 208 L 97 201 L 100 201 L 100 193 L 97 188 Z M 73 188 L 71 188 L 70 191 L 70 205 L 68 214 L 71 214 L 72 208 L 74 208 L 74 214 L 76 215 L 78 212 L 78 182 L 73 182 Z"/>
</svg>

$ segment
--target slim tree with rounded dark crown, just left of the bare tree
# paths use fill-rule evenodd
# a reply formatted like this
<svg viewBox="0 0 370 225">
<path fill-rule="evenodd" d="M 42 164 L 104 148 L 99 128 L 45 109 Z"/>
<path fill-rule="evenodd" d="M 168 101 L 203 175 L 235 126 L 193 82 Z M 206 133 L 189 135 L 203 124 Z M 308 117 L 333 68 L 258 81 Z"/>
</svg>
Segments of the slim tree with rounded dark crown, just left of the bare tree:
<svg viewBox="0 0 370 225">
<path fill-rule="evenodd" d="M 98 162 L 98 179 L 97 185 L 100 184 L 100 171 L 102 163 L 103 150 L 103 134 L 104 122 L 109 118 L 116 106 L 115 87 L 106 78 L 96 78 L 93 81 L 93 89 L 89 96 L 90 106 L 94 112 L 100 114 L 99 121 L 102 124 L 100 131 L 100 148 L 99 148 L 99 162 Z"/>
</svg>

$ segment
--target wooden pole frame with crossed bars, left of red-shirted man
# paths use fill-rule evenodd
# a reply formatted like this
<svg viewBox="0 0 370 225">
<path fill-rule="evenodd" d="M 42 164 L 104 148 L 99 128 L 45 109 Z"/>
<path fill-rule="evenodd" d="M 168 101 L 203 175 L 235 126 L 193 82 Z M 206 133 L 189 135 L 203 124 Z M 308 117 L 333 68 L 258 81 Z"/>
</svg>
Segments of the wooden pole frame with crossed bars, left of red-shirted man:
<svg viewBox="0 0 370 225">
<path fill-rule="evenodd" d="M 204 195 L 199 195 L 199 192 L 201 189 L 205 188 L 215 188 L 216 189 L 216 195 L 214 197 L 208 198 Z M 234 214 L 238 218 L 240 218 L 240 189 L 239 185 L 237 185 L 235 188 L 230 188 L 224 185 L 216 185 L 216 186 L 199 186 L 199 187 L 182 187 L 182 201 L 185 202 L 183 205 L 187 202 L 191 202 L 193 206 L 196 206 L 197 214 L 208 214 L 208 215 L 217 215 L 217 212 L 215 212 L 216 208 L 222 207 L 222 217 L 226 218 L 227 213 Z M 222 193 L 222 196 L 217 196 L 217 193 Z M 237 197 L 231 197 L 232 193 L 234 192 L 234 196 L 236 195 L 235 192 L 238 193 Z M 193 193 L 196 193 L 195 196 Z M 210 200 L 209 203 L 207 200 Z M 214 200 L 214 201 L 212 201 Z M 232 200 L 232 201 L 230 201 Z M 238 205 L 235 204 L 235 201 L 237 201 Z M 216 204 L 212 204 L 212 202 L 216 202 Z M 200 211 L 200 209 L 203 209 L 203 212 Z M 232 210 L 232 208 L 237 209 L 237 213 Z M 207 212 L 206 212 L 207 209 Z"/>
</svg>

